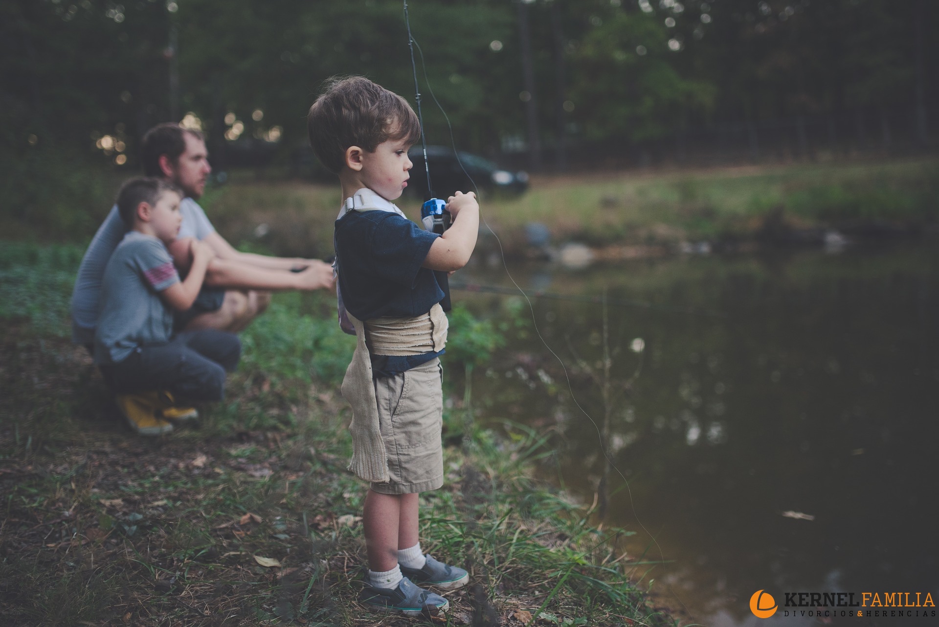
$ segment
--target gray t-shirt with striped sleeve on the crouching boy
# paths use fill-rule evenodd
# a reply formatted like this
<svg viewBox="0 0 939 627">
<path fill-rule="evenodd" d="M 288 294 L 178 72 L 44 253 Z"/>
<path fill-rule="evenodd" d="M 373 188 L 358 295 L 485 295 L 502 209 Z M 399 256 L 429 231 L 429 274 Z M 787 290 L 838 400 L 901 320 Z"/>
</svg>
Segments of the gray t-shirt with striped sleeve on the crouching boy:
<svg viewBox="0 0 939 627">
<path fill-rule="evenodd" d="M 104 269 L 95 363 L 124 361 L 138 346 L 173 337 L 173 310 L 160 292 L 179 281 L 173 259 L 155 237 L 129 231 Z"/>
</svg>

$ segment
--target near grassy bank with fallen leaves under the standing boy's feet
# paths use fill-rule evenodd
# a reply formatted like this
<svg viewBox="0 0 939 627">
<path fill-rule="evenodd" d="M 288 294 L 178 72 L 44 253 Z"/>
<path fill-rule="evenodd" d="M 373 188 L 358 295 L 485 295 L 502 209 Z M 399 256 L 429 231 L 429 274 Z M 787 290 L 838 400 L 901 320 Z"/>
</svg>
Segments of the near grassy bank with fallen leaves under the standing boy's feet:
<svg viewBox="0 0 939 627">
<path fill-rule="evenodd" d="M 411 622 L 354 603 L 364 491 L 345 471 L 336 390 L 352 346 L 329 299 L 276 297 L 200 428 L 143 439 L 66 337 L 81 248 L 0 250 L 4 624 Z M 463 326 L 456 356 L 494 341 L 485 323 Z M 448 363 L 450 377 L 462 366 Z M 537 433 L 514 428 L 506 441 L 464 427 L 460 402 L 447 404 L 446 483 L 423 496 L 422 539 L 472 585 L 435 622 L 671 624 L 650 607 L 645 566 L 612 554 L 625 532 L 589 525 L 588 511 L 531 478 Z"/>
</svg>

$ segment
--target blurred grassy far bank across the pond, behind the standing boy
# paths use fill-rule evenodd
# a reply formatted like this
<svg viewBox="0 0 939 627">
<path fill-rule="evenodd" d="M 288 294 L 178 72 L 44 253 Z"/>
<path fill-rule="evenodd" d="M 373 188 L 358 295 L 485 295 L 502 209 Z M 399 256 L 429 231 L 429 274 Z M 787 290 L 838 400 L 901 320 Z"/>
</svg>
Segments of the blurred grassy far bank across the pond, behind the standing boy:
<svg viewBox="0 0 939 627">
<path fill-rule="evenodd" d="M 206 206 L 236 242 L 292 255 L 331 251 L 339 204 L 334 185 L 238 181 Z M 411 216 L 418 201 L 399 202 Z M 517 198 L 484 198 L 485 219 L 509 251 L 525 247 L 525 225 L 545 224 L 554 243 L 593 246 L 752 241 L 771 227 L 851 233 L 913 230 L 935 222 L 939 160 L 760 165 L 697 171 L 534 177 Z M 263 226 L 262 226 L 263 225 Z M 485 246 L 494 243 L 485 238 Z"/>
</svg>

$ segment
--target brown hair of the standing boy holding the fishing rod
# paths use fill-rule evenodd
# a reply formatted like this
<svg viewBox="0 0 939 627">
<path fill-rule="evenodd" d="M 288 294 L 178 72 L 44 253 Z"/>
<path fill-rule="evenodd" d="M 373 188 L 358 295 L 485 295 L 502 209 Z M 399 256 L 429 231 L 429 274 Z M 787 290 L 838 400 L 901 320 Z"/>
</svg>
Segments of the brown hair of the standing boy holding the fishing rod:
<svg viewBox="0 0 939 627">
<path fill-rule="evenodd" d="M 333 174 L 346 165 L 350 146 L 373 152 L 389 139 L 415 144 L 421 138 L 421 123 L 408 101 L 364 76 L 327 81 L 306 126 L 316 157 Z"/>
</svg>

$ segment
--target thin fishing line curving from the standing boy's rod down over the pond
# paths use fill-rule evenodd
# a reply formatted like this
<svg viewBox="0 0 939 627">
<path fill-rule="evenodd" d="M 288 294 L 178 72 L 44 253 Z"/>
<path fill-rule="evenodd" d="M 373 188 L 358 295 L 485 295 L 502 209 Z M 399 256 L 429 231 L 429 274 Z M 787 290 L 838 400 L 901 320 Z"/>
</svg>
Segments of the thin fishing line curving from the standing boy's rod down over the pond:
<svg viewBox="0 0 939 627">
<path fill-rule="evenodd" d="M 469 182 L 470 182 L 470 184 L 472 185 L 473 190 L 476 192 L 476 197 L 479 198 L 479 187 L 476 185 L 476 181 L 473 180 L 473 178 L 472 178 L 471 176 L 469 176 L 469 172 L 467 172 L 466 167 L 463 165 L 463 161 L 460 159 L 459 151 L 456 149 L 456 138 L 455 138 L 455 136 L 454 136 L 454 127 L 453 127 L 453 124 L 451 124 L 451 122 L 450 122 L 450 116 L 447 115 L 447 112 L 446 112 L 446 110 L 443 108 L 443 105 L 440 104 L 439 100 L 437 99 L 437 95 L 434 93 L 434 88 L 433 88 L 433 87 L 431 86 L 431 84 L 430 84 L 430 79 L 429 79 L 428 76 L 427 76 L 427 63 L 426 63 L 426 61 L 425 61 L 425 59 L 424 59 L 424 56 L 423 56 L 423 50 L 422 50 L 422 48 L 421 48 L 421 44 L 419 44 L 418 41 L 417 41 L 416 39 L 414 39 L 414 37 L 411 35 L 410 23 L 409 23 L 409 21 L 408 21 L 408 0 L 404 0 L 404 8 L 405 8 L 405 23 L 407 24 L 407 27 L 408 27 L 408 45 L 410 45 L 411 43 L 413 43 L 413 45 L 417 47 L 418 54 L 421 55 L 421 67 L 422 67 L 422 70 L 423 70 L 423 80 L 424 80 L 424 83 L 425 83 L 426 86 L 427 86 L 427 91 L 430 93 L 431 98 L 434 99 L 434 102 L 437 103 L 437 107 L 439 108 L 440 113 L 443 115 L 443 118 L 444 118 L 444 119 L 446 120 L 446 122 L 447 122 L 447 129 L 448 129 L 449 132 L 450 132 L 450 142 L 451 142 L 451 145 L 452 145 L 452 147 L 453 147 L 453 149 L 454 149 L 454 156 L 456 157 L 456 163 L 459 164 L 460 169 L 463 171 L 463 174 L 466 175 L 467 179 L 469 179 Z M 413 70 L 413 72 L 414 72 L 414 74 L 415 74 L 415 76 L 416 76 L 416 75 L 417 75 L 417 67 L 414 65 L 414 52 L 413 52 L 413 47 L 411 48 L 411 66 L 412 66 L 412 70 Z M 419 106 L 420 106 L 420 100 L 418 100 L 418 104 L 419 104 Z M 422 135 L 423 135 L 423 128 L 421 129 L 421 133 L 422 133 Z M 426 150 L 424 151 L 424 162 L 423 162 L 423 163 L 424 163 L 424 165 L 427 164 Z M 429 182 L 430 182 L 430 181 L 429 181 L 429 179 L 428 179 L 428 187 L 429 187 Z M 508 262 L 507 262 L 506 259 L 505 259 L 505 249 L 504 249 L 504 247 L 502 246 L 502 241 L 501 241 L 499 235 L 496 233 L 496 231 L 493 230 L 493 228 L 489 226 L 488 221 L 485 219 L 485 214 L 484 214 L 482 208 L 480 208 L 480 218 L 482 218 L 483 224 L 484 224 L 485 227 L 488 229 L 488 231 L 492 234 L 492 236 L 496 239 L 496 243 L 499 244 L 499 252 L 500 252 L 501 259 L 502 259 L 502 267 L 505 269 L 505 274 L 509 277 L 509 280 L 512 281 L 512 284 L 516 287 L 516 290 L 518 290 L 518 292 L 519 292 L 519 293 L 522 295 L 522 297 L 525 299 L 525 302 L 528 303 L 529 310 L 531 311 L 531 323 L 532 323 L 532 325 L 534 326 L 535 334 L 537 334 L 538 339 L 541 340 L 541 343 L 545 345 L 545 348 L 547 349 L 548 353 L 551 353 L 551 354 L 554 356 L 554 358 L 558 361 L 558 363 L 561 365 L 562 371 L 563 371 L 563 373 L 564 373 L 564 378 L 567 380 L 567 389 L 568 389 L 568 391 L 569 391 L 570 394 L 571 394 L 571 400 L 573 400 L 573 401 L 574 401 L 574 404 L 577 405 L 577 409 L 580 410 L 580 412 L 581 412 L 583 415 L 587 416 L 587 419 L 590 420 L 591 423 L 593 424 L 593 428 L 596 430 L 597 439 L 598 439 L 599 442 L 600 442 L 600 450 L 603 452 L 603 455 L 604 455 L 604 457 L 606 458 L 607 462 L 609 463 L 610 467 L 613 468 L 613 469 L 616 471 L 616 473 L 620 476 L 620 478 L 623 479 L 623 483 L 624 483 L 625 486 L 626 486 L 626 491 L 627 491 L 627 493 L 629 494 L 629 505 L 630 505 L 630 507 L 631 507 L 632 510 L 633 510 L 633 516 L 635 516 L 636 522 L 639 523 L 639 526 L 642 527 L 642 530 L 645 531 L 646 534 L 648 534 L 648 536 L 652 539 L 652 541 L 654 541 L 655 547 L 658 549 L 659 556 L 662 557 L 662 562 L 664 563 L 664 562 L 665 562 L 665 552 L 662 551 L 662 546 L 661 546 L 661 545 L 658 543 L 658 541 L 655 539 L 655 536 L 652 534 L 652 532 L 649 531 L 649 529 L 647 529 L 646 526 L 642 524 L 642 521 L 641 521 L 641 520 L 639 520 L 639 513 L 636 511 L 636 503 L 635 503 L 635 501 L 633 500 L 633 491 L 632 491 L 632 487 L 631 487 L 630 484 L 629 484 L 629 480 L 625 477 L 625 475 L 623 475 L 623 472 L 622 472 L 622 471 L 620 470 L 620 468 L 616 465 L 616 463 L 613 462 L 613 458 L 612 458 L 612 456 L 609 454 L 609 451 L 608 451 L 608 448 L 607 448 L 607 443 L 604 442 L 604 439 L 603 439 L 603 432 L 600 431 L 599 425 L 597 425 L 596 421 L 593 419 L 593 416 L 591 416 L 591 415 L 587 412 L 587 410 L 584 409 L 584 407 L 583 407 L 583 406 L 580 404 L 580 402 L 577 400 L 577 397 L 576 397 L 575 394 L 574 394 L 574 385 L 571 383 L 571 377 L 570 377 L 570 375 L 569 375 L 568 372 L 567 372 L 567 367 L 564 365 L 564 361 L 562 360 L 561 356 L 558 355 L 558 353 L 555 353 L 555 352 L 554 352 L 554 349 L 552 349 L 552 348 L 548 345 L 548 343 L 547 343 L 545 337 L 543 337 L 543 336 L 541 335 L 541 329 L 538 328 L 538 321 L 537 321 L 537 319 L 536 319 L 536 317 L 535 317 L 534 306 L 531 304 L 531 299 L 529 298 L 528 294 L 525 293 L 525 290 L 522 290 L 521 286 L 518 285 L 518 283 L 516 282 L 515 277 L 512 276 L 512 273 L 509 271 L 509 265 L 508 265 Z M 672 588 L 671 588 L 671 586 L 670 586 L 670 584 L 668 583 L 667 580 L 665 581 L 665 585 L 669 588 L 669 590 L 670 590 L 672 596 L 674 596 L 674 598 L 677 599 L 679 603 L 682 603 L 682 607 L 685 608 L 685 612 L 688 612 L 687 607 L 685 606 L 685 603 L 681 600 L 681 598 L 678 597 L 677 594 L 674 593 L 674 591 L 672 590 Z M 690 615 L 690 612 L 688 612 L 688 614 Z"/>
</svg>

